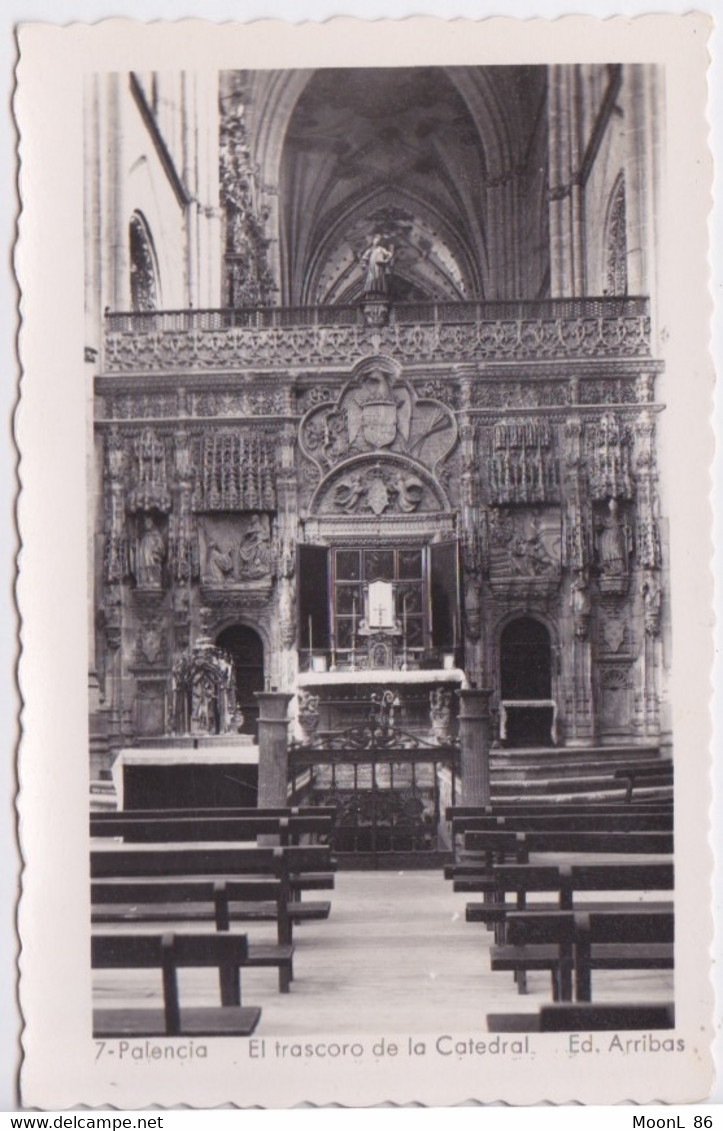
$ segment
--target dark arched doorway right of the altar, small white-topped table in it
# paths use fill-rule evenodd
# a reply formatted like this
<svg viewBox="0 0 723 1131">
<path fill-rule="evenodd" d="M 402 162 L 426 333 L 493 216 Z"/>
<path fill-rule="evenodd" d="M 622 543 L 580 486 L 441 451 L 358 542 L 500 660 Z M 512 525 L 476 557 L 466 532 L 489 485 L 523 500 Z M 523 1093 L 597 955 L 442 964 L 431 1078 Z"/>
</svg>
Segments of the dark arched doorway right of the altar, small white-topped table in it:
<svg viewBox="0 0 723 1131">
<path fill-rule="evenodd" d="M 548 629 L 532 616 L 510 621 L 502 630 L 500 700 L 508 746 L 551 745 L 552 644 Z"/>
</svg>

